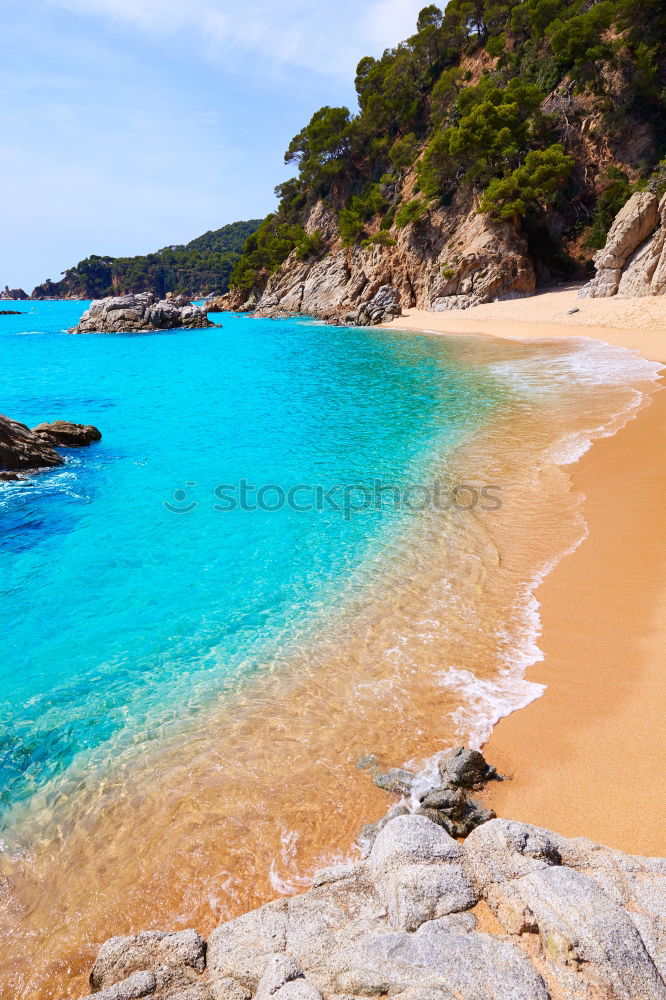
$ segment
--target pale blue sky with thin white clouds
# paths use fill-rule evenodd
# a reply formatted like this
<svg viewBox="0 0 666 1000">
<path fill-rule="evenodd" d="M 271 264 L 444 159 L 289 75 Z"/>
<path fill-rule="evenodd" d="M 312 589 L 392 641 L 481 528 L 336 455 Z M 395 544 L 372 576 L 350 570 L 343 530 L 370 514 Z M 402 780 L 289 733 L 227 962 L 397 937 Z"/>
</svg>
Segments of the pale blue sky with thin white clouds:
<svg viewBox="0 0 666 1000">
<path fill-rule="evenodd" d="M 0 287 L 261 218 L 425 0 L 2 0 Z"/>
</svg>

